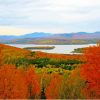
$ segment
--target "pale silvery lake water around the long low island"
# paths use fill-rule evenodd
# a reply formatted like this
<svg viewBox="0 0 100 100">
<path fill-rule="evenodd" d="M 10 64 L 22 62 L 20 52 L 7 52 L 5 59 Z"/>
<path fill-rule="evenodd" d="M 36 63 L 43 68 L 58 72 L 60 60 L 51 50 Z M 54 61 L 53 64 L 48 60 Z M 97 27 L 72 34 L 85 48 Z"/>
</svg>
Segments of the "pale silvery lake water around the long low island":
<svg viewBox="0 0 100 100">
<path fill-rule="evenodd" d="M 72 54 L 71 52 L 77 48 L 95 46 L 96 44 L 84 44 L 84 45 L 35 45 L 35 44 L 9 44 L 10 46 L 24 48 L 24 47 L 36 47 L 36 46 L 55 46 L 51 50 L 39 50 L 35 49 L 32 51 L 42 51 L 47 53 L 58 53 L 58 54 Z"/>
</svg>

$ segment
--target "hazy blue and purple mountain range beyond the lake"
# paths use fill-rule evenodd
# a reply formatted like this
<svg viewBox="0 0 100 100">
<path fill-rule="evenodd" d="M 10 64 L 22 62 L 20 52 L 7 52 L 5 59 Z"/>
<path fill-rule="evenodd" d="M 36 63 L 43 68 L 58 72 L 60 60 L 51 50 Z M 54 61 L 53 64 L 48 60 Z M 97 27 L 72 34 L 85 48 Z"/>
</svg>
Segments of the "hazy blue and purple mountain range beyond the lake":
<svg viewBox="0 0 100 100">
<path fill-rule="evenodd" d="M 32 44 L 87 44 L 100 41 L 100 32 L 44 33 L 34 32 L 20 36 L 0 36 L 0 43 Z"/>
</svg>

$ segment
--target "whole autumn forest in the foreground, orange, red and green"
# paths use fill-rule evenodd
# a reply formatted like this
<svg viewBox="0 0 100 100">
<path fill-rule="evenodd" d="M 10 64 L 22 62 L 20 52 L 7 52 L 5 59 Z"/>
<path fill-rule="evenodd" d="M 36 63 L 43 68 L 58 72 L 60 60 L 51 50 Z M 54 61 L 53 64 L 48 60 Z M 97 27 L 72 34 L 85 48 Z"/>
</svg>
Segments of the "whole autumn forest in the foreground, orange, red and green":
<svg viewBox="0 0 100 100">
<path fill-rule="evenodd" d="M 0 99 L 99 99 L 100 46 L 49 54 L 0 44 Z"/>
</svg>

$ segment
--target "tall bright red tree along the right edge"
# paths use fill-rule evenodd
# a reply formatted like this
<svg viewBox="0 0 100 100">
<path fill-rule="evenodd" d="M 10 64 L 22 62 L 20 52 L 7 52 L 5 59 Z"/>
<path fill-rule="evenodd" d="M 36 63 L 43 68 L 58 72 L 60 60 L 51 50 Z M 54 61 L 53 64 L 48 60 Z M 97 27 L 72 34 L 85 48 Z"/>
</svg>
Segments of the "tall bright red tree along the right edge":
<svg viewBox="0 0 100 100">
<path fill-rule="evenodd" d="M 100 98 L 100 46 L 86 48 L 86 64 L 81 68 L 81 76 L 86 80 L 84 93 L 87 98 Z"/>
</svg>

